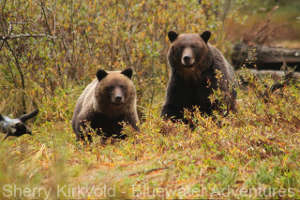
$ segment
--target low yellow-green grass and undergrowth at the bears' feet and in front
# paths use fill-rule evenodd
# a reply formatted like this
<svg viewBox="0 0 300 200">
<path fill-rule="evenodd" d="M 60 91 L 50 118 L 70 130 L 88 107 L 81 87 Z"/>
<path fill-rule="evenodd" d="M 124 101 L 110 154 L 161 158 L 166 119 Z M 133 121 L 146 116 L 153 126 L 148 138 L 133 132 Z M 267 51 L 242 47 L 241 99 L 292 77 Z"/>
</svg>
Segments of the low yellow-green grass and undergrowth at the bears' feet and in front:
<svg viewBox="0 0 300 200">
<path fill-rule="evenodd" d="M 140 132 L 126 126 L 127 139 L 103 144 L 95 136 L 90 145 L 76 142 L 70 123 L 71 99 L 82 88 L 58 90 L 54 98 L 43 99 L 33 137 L 1 143 L 0 197 L 10 199 L 16 192 L 29 199 L 24 188 L 39 188 L 40 193 L 28 194 L 46 198 L 47 191 L 51 199 L 300 198 L 300 85 L 286 86 L 266 101 L 258 94 L 274 81 L 248 78 L 252 86 L 238 89 L 238 111 L 226 118 L 195 112 L 191 130 L 163 121 L 159 103 L 143 111 Z"/>
</svg>

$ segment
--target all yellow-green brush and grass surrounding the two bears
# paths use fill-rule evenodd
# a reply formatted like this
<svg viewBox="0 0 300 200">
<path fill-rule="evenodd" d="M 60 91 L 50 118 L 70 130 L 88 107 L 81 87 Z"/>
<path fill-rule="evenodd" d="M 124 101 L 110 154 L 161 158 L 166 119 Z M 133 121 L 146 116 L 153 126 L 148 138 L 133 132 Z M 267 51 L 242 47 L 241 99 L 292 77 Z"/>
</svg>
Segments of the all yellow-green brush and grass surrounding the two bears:
<svg viewBox="0 0 300 200">
<path fill-rule="evenodd" d="M 274 80 L 246 69 L 238 112 L 163 121 L 167 32 L 213 32 L 229 56 L 226 20 L 244 22 L 246 0 L 0 1 L 0 111 L 38 107 L 33 136 L 0 143 L 0 199 L 300 198 L 299 82 L 262 95 Z M 222 14 L 223 13 L 223 14 Z M 225 31 L 224 31 L 225 30 Z M 76 142 L 76 99 L 96 70 L 132 67 L 140 132 Z M 3 135 L 4 137 L 4 135 Z M 1 136 L 2 140 L 2 136 Z"/>
</svg>

